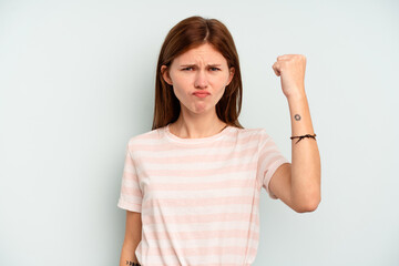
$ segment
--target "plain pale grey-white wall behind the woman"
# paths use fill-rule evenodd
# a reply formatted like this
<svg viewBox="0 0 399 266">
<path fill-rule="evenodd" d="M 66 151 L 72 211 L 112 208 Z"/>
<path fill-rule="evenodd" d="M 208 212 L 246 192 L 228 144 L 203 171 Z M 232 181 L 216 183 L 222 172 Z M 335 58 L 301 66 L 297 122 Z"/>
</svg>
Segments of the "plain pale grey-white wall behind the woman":
<svg viewBox="0 0 399 266">
<path fill-rule="evenodd" d="M 167 31 L 198 14 L 231 30 L 245 127 L 290 158 L 272 69 L 307 58 L 321 203 L 260 198 L 254 266 L 399 265 L 398 1 L 0 1 L 0 265 L 117 265 L 124 152 L 149 132 Z"/>
</svg>

